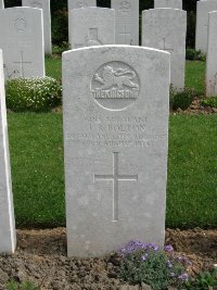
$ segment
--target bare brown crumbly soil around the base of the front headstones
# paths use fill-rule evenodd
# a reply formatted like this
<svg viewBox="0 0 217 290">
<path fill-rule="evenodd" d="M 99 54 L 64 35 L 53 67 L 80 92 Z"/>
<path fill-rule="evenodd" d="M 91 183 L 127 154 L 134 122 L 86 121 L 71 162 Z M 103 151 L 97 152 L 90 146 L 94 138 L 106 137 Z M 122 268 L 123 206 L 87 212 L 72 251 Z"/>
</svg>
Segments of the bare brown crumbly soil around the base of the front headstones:
<svg viewBox="0 0 217 290">
<path fill-rule="evenodd" d="M 191 261 L 190 275 L 217 264 L 217 229 L 167 229 L 166 244 Z M 118 269 L 115 254 L 104 259 L 66 257 L 65 228 L 17 230 L 15 254 L 0 256 L 0 290 L 5 290 L 10 279 L 34 281 L 41 290 L 117 290 L 123 285 Z"/>
</svg>

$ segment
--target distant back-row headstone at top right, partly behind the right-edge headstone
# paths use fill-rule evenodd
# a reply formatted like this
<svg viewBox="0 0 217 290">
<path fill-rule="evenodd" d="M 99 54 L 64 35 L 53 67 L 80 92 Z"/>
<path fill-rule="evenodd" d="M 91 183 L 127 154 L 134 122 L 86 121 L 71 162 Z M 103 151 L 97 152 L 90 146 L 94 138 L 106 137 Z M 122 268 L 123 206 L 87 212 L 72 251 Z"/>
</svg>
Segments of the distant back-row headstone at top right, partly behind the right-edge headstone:
<svg viewBox="0 0 217 290">
<path fill-rule="evenodd" d="M 196 2 L 196 39 L 195 49 L 204 53 L 207 51 L 208 41 L 208 12 L 217 11 L 216 0 Z"/>
</svg>

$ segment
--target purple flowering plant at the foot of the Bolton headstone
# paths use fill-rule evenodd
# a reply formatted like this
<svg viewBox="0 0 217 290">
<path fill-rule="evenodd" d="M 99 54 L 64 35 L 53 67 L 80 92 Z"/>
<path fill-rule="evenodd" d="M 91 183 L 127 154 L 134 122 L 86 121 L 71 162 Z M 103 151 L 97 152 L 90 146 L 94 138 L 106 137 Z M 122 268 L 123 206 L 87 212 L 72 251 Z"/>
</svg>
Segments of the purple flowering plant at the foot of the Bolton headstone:
<svg viewBox="0 0 217 290">
<path fill-rule="evenodd" d="M 188 279 L 189 261 L 176 256 L 171 245 L 159 249 L 154 243 L 133 240 L 120 249 L 120 278 L 132 285 L 144 282 L 153 290 L 181 287 Z"/>
</svg>

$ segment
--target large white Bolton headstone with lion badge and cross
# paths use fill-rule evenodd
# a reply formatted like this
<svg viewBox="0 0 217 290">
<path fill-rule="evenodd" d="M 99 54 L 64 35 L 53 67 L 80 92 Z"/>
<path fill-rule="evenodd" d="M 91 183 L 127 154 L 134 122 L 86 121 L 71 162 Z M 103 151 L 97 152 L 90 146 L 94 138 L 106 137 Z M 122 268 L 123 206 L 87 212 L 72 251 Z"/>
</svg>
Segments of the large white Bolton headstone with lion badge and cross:
<svg viewBox="0 0 217 290">
<path fill-rule="evenodd" d="M 130 46 L 63 53 L 69 256 L 164 244 L 169 59 Z"/>
</svg>

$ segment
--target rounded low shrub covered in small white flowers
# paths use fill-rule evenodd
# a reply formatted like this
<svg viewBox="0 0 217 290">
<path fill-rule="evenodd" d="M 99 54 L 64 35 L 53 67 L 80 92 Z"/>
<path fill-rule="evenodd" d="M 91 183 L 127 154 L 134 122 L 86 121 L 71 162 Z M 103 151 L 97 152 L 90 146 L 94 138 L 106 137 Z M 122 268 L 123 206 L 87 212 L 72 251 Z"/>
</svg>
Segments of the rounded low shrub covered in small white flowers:
<svg viewBox="0 0 217 290">
<path fill-rule="evenodd" d="M 15 78 L 5 84 L 7 108 L 14 111 L 49 111 L 61 104 L 61 85 L 51 77 Z"/>
</svg>

